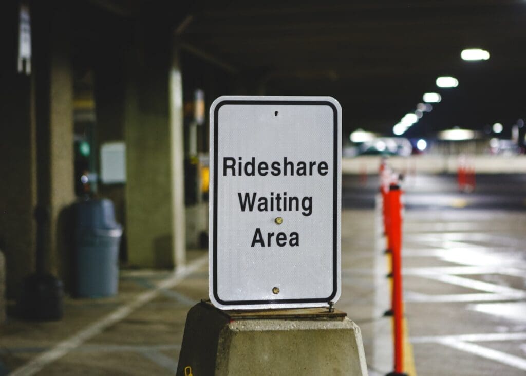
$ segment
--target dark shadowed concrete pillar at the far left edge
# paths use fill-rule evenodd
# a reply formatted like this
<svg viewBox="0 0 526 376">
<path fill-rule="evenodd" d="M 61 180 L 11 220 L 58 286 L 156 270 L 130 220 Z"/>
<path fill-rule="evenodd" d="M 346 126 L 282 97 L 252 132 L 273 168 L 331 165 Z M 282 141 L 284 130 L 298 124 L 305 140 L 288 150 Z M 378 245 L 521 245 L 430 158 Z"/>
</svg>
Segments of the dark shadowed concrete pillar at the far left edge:
<svg viewBox="0 0 526 376">
<path fill-rule="evenodd" d="M 19 3 L 0 5 L 0 249 L 6 261 L 9 297 L 34 271 L 36 222 L 36 135 L 32 77 L 17 73 Z"/>
</svg>

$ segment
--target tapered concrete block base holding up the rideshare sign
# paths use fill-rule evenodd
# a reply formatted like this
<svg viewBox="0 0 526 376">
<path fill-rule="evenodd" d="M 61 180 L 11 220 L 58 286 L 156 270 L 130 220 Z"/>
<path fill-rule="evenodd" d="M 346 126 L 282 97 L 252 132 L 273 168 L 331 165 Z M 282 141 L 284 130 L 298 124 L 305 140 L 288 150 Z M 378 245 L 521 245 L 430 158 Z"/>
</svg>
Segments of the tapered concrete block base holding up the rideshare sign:
<svg viewBox="0 0 526 376">
<path fill-rule="evenodd" d="M 178 375 L 367 375 L 360 328 L 328 308 L 188 312 Z M 185 370 L 186 369 L 186 370 Z"/>
</svg>

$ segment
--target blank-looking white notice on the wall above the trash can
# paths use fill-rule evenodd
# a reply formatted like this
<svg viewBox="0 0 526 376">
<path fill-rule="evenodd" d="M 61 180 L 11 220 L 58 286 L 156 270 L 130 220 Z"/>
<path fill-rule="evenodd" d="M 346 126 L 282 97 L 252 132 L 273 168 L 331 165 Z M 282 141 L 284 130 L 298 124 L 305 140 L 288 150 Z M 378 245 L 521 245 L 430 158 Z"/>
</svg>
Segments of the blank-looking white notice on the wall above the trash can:
<svg viewBox="0 0 526 376">
<path fill-rule="evenodd" d="M 126 182 L 126 145 L 117 141 L 100 146 L 100 180 L 103 184 Z"/>
</svg>

